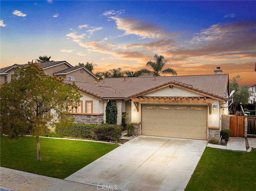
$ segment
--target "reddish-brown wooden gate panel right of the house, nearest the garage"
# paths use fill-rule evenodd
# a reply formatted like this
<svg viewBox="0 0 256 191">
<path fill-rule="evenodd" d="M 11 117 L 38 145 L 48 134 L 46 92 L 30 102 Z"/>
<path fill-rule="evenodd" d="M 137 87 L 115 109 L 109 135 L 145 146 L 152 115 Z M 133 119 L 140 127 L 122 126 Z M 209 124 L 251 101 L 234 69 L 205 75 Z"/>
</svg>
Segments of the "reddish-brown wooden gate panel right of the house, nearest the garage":
<svg viewBox="0 0 256 191">
<path fill-rule="evenodd" d="M 244 116 L 230 116 L 230 137 L 244 137 Z"/>
</svg>

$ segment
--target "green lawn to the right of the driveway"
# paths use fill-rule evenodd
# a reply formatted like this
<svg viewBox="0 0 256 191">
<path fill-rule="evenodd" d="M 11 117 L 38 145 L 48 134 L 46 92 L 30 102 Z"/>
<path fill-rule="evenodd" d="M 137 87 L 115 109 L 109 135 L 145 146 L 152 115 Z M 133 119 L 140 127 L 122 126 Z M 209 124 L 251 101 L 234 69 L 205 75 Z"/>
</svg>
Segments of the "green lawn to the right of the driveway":
<svg viewBox="0 0 256 191">
<path fill-rule="evenodd" d="M 253 191 L 256 149 L 234 152 L 206 147 L 186 191 Z"/>
</svg>

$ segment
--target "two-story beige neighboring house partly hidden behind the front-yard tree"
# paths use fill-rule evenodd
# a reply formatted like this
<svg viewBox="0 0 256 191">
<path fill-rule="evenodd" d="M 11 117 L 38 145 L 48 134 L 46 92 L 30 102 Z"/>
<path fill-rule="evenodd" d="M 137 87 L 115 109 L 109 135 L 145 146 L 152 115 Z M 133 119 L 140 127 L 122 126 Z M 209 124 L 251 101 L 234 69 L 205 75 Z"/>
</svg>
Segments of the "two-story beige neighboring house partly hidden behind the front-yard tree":
<svg viewBox="0 0 256 191">
<path fill-rule="evenodd" d="M 14 64 L 9 67 L 0 69 L 0 83 L 4 83 L 5 81 L 10 81 L 14 79 L 14 69 L 15 67 L 22 67 L 24 65 Z M 76 80 L 76 81 L 84 81 L 95 83 L 97 77 L 86 69 L 83 66 L 75 66 L 73 67 L 67 61 L 56 61 L 56 62 L 43 62 L 39 63 L 39 65 L 44 69 L 44 73 L 50 76 L 58 76 L 62 77 L 64 80 Z"/>
</svg>

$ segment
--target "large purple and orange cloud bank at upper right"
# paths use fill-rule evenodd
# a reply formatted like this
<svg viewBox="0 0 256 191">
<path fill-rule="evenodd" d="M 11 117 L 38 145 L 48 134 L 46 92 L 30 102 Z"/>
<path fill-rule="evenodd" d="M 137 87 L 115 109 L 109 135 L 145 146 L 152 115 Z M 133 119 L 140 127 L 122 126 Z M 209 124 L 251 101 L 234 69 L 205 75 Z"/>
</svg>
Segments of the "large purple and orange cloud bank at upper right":
<svg viewBox="0 0 256 191">
<path fill-rule="evenodd" d="M 219 23 L 187 41 L 186 47 L 166 51 L 168 57 L 201 60 L 253 59 L 255 57 L 256 22 Z"/>
</svg>

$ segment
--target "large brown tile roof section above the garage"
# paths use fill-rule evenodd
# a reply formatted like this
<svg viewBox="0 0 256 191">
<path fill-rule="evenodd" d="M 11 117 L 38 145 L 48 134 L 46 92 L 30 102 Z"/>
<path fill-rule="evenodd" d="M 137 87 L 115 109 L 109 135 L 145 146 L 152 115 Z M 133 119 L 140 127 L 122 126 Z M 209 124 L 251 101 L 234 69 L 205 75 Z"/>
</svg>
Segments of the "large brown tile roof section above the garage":
<svg viewBox="0 0 256 191">
<path fill-rule="evenodd" d="M 198 93 L 226 100 L 228 94 L 228 74 L 222 75 L 191 75 L 191 76 L 159 76 L 159 77 L 127 77 L 106 78 L 97 86 L 112 87 L 126 99 L 140 95 L 157 87 L 175 84 Z"/>
</svg>

